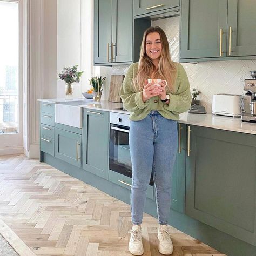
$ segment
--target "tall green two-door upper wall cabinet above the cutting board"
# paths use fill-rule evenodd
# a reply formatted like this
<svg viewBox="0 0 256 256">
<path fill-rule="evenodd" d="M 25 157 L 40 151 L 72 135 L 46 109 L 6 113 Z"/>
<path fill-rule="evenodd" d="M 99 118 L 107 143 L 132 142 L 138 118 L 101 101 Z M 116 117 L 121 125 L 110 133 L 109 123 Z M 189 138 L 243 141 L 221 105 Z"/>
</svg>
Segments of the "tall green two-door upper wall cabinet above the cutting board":
<svg viewBox="0 0 256 256">
<path fill-rule="evenodd" d="M 132 62 L 133 1 L 94 1 L 94 63 Z"/>
</svg>

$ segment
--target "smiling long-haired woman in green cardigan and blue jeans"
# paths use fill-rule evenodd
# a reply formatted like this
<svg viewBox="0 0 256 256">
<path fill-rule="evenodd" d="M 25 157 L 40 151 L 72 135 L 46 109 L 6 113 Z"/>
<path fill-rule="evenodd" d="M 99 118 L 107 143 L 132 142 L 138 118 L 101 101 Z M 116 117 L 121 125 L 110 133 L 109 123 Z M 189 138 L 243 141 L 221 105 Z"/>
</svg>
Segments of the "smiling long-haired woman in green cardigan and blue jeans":
<svg viewBox="0 0 256 256">
<path fill-rule="evenodd" d="M 160 78 L 166 84 L 147 83 Z M 171 177 L 176 159 L 179 114 L 191 104 L 190 85 L 182 65 L 171 60 L 164 31 L 151 27 L 144 32 L 138 63 L 126 73 L 120 96 L 130 111 L 129 143 L 132 160 L 131 215 L 129 251 L 144 252 L 141 227 L 146 190 L 153 171 L 158 213 L 160 253 L 172 254 L 173 245 L 167 231 L 171 204 Z"/>
</svg>

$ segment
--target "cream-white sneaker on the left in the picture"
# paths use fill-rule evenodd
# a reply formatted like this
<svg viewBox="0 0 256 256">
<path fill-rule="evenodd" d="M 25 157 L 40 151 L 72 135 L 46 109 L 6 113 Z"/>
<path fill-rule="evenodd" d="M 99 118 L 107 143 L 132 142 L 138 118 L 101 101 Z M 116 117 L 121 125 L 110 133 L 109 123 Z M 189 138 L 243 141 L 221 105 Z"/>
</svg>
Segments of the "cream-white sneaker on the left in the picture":
<svg viewBox="0 0 256 256">
<path fill-rule="evenodd" d="M 144 253 L 142 244 L 142 228 L 139 225 L 134 225 L 132 230 L 128 233 L 131 233 L 128 247 L 130 253 L 133 255 L 142 255 Z"/>
</svg>

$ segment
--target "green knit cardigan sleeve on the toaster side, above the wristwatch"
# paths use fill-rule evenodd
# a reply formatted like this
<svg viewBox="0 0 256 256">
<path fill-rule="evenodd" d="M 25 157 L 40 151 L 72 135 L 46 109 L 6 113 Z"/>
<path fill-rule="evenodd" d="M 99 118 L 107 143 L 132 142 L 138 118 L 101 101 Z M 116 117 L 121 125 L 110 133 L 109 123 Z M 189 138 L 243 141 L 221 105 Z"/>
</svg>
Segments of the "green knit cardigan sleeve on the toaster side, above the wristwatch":
<svg viewBox="0 0 256 256">
<path fill-rule="evenodd" d="M 177 67 L 177 92 L 168 93 L 170 96 L 169 104 L 164 104 L 164 109 L 180 114 L 187 111 L 191 105 L 190 83 L 188 82 L 186 71 L 181 64 Z"/>
</svg>

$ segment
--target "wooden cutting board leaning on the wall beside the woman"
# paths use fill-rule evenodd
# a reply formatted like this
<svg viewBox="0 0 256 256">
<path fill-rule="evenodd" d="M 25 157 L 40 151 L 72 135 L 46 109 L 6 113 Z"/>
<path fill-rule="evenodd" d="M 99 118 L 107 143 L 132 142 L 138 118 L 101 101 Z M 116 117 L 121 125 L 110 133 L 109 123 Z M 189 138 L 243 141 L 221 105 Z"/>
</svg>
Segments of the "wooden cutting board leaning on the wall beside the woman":
<svg viewBox="0 0 256 256">
<path fill-rule="evenodd" d="M 124 75 L 111 75 L 109 87 L 109 102 L 122 103 L 120 89 L 124 80 Z"/>
</svg>

